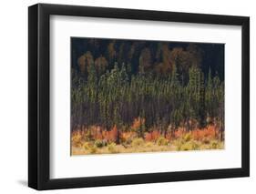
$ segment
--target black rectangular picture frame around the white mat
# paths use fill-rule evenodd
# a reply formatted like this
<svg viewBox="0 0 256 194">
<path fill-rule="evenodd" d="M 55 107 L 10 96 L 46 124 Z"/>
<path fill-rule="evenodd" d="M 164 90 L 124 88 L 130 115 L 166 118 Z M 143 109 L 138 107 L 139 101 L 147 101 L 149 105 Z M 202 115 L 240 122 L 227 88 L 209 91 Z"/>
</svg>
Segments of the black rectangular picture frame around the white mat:
<svg viewBox="0 0 256 194">
<path fill-rule="evenodd" d="M 241 168 L 205 169 L 118 176 L 50 179 L 50 15 L 241 26 Z M 28 186 L 69 189 L 110 185 L 250 176 L 250 18 L 176 12 L 37 4 L 28 8 Z M 228 117 L 228 116 L 227 116 Z"/>
</svg>

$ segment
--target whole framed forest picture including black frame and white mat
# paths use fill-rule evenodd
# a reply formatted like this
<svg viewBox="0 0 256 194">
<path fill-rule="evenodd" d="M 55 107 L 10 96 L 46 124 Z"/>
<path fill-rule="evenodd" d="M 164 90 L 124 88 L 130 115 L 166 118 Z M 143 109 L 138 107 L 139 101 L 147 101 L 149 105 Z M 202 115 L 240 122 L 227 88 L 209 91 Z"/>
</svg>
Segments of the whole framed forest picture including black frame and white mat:
<svg viewBox="0 0 256 194">
<path fill-rule="evenodd" d="M 30 188 L 249 176 L 250 17 L 28 7 Z"/>
</svg>

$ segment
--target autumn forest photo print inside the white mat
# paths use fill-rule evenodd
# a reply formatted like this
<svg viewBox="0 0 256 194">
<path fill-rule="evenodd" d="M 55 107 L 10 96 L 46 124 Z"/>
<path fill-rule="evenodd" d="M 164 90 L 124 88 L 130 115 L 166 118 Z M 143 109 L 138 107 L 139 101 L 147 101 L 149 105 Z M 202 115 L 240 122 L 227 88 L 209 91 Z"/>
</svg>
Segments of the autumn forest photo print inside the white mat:
<svg viewBox="0 0 256 194">
<path fill-rule="evenodd" d="M 71 37 L 71 155 L 223 149 L 224 46 Z"/>
</svg>

